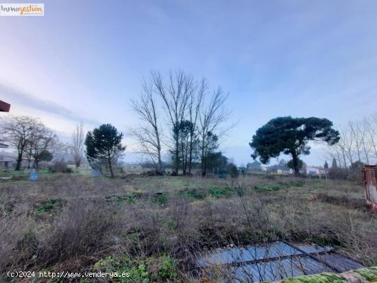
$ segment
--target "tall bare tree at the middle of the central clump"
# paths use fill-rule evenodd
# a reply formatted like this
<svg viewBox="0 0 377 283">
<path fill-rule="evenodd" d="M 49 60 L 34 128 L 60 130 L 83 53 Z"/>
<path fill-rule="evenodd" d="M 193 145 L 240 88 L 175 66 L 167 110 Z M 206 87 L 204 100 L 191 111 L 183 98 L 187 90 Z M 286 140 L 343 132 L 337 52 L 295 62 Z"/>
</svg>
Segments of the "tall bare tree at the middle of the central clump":
<svg viewBox="0 0 377 283">
<path fill-rule="evenodd" d="M 195 91 L 195 84 L 193 78 L 183 71 L 170 72 L 167 84 L 163 82 L 162 76 L 156 71 L 151 72 L 151 79 L 156 88 L 156 93 L 165 105 L 165 111 L 171 124 L 173 132 L 173 146 L 171 148 L 174 156 L 175 175 L 177 175 L 180 160 L 180 142 L 179 133 L 173 129 L 178 127 L 180 121 L 184 120 L 186 116 L 186 108 L 191 95 Z"/>
</svg>

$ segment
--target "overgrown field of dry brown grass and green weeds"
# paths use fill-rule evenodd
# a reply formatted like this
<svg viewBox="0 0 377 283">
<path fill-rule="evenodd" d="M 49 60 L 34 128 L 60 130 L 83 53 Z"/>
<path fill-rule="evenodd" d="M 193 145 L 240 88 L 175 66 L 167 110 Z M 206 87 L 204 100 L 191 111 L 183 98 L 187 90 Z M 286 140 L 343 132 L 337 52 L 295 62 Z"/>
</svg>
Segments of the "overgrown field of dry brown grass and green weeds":
<svg viewBox="0 0 377 283">
<path fill-rule="evenodd" d="M 11 281 L 7 271 L 21 270 L 197 282 L 195 252 L 278 238 L 334 245 L 366 266 L 377 264 L 377 221 L 353 182 L 57 173 L 19 179 L 0 181 L 1 282 Z"/>
</svg>

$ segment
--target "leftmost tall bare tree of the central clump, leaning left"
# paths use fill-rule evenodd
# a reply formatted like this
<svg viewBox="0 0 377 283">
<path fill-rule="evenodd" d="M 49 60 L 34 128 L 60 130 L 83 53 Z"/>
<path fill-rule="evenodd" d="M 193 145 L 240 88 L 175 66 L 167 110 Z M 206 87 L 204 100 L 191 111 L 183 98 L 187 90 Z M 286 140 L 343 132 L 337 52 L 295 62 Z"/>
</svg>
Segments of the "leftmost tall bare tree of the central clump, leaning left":
<svg viewBox="0 0 377 283">
<path fill-rule="evenodd" d="M 131 102 L 131 108 L 144 121 L 144 125 L 130 127 L 128 132 L 138 141 L 140 145 L 138 152 L 147 154 L 158 172 L 163 173 L 161 160 L 162 130 L 152 80 L 143 82 L 143 93 L 138 100 Z"/>
</svg>

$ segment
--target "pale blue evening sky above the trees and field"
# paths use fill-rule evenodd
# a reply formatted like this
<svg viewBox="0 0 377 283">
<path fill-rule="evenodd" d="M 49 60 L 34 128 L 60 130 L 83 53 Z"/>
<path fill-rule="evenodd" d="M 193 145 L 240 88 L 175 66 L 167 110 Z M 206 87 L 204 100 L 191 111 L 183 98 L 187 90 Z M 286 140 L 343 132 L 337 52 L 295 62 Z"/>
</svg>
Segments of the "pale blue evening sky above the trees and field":
<svg viewBox="0 0 377 283">
<path fill-rule="evenodd" d="M 342 125 L 376 112 L 376 0 L 38 3 L 45 16 L 0 16 L 0 100 L 62 139 L 80 121 L 137 124 L 129 101 L 151 70 L 182 69 L 229 93 L 238 123 L 221 150 L 237 164 L 252 161 L 248 143 L 276 116 Z M 315 144 L 302 159 L 325 158 Z"/>
</svg>

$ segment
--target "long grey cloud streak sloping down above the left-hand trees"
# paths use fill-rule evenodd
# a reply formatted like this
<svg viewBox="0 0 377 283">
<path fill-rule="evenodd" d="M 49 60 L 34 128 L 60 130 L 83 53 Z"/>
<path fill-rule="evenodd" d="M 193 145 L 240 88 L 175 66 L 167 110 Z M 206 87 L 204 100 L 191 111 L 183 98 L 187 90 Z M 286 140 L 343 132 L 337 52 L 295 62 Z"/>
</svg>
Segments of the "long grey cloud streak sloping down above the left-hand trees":
<svg viewBox="0 0 377 283">
<path fill-rule="evenodd" d="M 80 114 L 77 114 L 76 112 L 73 112 L 72 110 L 69 110 L 69 108 L 61 106 L 58 103 L 48 101 L 45 99 L 40 99 L 33 95 L 27 94 L 22 90 L 17 90 L 15 88 L 5 86 L 3 84 L 0 84 L 0 97 L 7 97 L 7 102 L 11 104 L 11 110 L 12 105 L 19 104 L 22 106 L 27 106 L 28 108 L 41 110 L 43 112 L 47 112 L 50 114 L 55 114 L 61 116 L 64 119 L 70 119 L 73 121 L 83 121 L 84 123 L 93 125 L 99 124 L 98 121 L 88 119 Z"/>
</svg>

